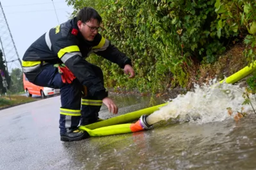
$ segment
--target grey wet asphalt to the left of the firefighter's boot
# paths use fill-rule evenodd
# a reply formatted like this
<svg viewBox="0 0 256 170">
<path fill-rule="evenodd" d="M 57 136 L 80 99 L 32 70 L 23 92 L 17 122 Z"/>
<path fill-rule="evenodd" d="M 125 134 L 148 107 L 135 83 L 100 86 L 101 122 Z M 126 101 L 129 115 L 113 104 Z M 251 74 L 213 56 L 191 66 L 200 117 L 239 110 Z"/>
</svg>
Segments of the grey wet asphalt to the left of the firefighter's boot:
<svg viewBox="0 0 256 170">
<path fill-rule="evenodd" d="M 0 169 L 44 169 L 60 158 L 60 97 L 0 111 Z"/>
</svg>

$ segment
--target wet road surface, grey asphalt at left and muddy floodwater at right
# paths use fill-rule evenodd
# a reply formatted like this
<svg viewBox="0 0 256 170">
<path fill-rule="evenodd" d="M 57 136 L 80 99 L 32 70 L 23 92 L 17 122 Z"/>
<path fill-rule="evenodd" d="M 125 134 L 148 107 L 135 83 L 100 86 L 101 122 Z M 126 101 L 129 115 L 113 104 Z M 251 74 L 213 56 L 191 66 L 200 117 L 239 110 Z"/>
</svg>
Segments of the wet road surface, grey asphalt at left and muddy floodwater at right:
<svg viewBox="0 0 256 170">
<path fill-rule="evenodd" d="M 240 100 L 237 93 L 233 95 Z M 256 169 L 255 114 L 236 122 L 226 110 L 221 112 L 221 105 L 226 107 L 227 101 L 220 105 L 218 98 L 214 100 L 219 102 L 211 103 L 215 112 L 203 112 L 203 100 L 197 100 L 195 94 L 193 99 L 200 107 L 189 107 L 185 112 L 181 107 L 188 104 L 182 98 L 188 100 L 188 96 L 180 97 L 173 104 L 184 114 L 177 117 L 170 108 L 154 113 L 152 117 L 161 117 L 161 121 L 152 130 L 72 143 L 60 141 L 60 97 L 2 110 L 0 169 Z M 150 106 L 148 97 L 115 96 L 114 100 L 120 107 L 118 115 Z M 207 99 L 204 101 L 207 103 Z M 163 98 L 156 99 L 156 105 L 163 103 Z M 233 109 L 236 105 L 240 107 L 236 102 L 228 103 Z M 191 111 L 199 112 L 199 119 L 184 121 L 193 116 Z M 112 116 L 102 106 L 100 118 Z"/>
</svg>

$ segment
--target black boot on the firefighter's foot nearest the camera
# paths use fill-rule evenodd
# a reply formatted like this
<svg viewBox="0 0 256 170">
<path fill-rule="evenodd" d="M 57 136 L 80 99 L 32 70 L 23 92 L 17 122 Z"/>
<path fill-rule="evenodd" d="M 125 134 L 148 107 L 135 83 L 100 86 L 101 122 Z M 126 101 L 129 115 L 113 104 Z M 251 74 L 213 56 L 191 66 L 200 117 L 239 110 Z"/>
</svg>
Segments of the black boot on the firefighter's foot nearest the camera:
<svg viewBox="0 0 256 170">
<path fill-rule="evenodd" d="M 61 134 L 60 140 L 65 142 L 72 142 L 72 141 L 80 141 L 88 137 L 90 137 L 90 135 L 86 131 L 81 131 L 76 128 L 76 129 L 68 130 L 66 134 Z"/>
</svg>

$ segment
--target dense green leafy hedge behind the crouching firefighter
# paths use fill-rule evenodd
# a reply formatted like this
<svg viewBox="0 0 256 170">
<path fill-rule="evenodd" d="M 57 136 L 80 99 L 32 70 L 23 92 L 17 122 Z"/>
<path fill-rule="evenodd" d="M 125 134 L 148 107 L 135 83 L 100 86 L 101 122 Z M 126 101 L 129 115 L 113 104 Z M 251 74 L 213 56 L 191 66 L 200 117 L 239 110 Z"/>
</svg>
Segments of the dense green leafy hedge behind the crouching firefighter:
<svg viewBox="0 0 256 170">
<path fill-rule="evenodd" d="M 74 13 L 83 6 L 95 8 L 103 18 L 101 34 L 132 59 L 136 79 L 129 81 L 109 61 L 88 59 L 102 68 L 108 87 L 157 93 L 171 85 L 186 86 L 191 61 L 214 63 L 247 30 L 252 35 L 246 43 L 255 46 L 254 1 L 66 1 Z M 251 58 L 253 53 L 248 51 Z"/>
</svg>

